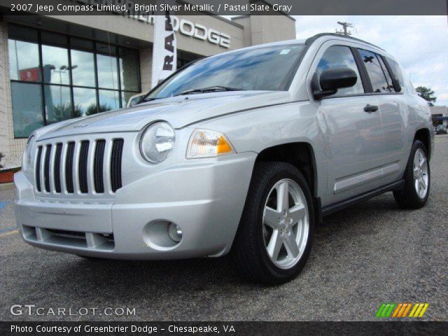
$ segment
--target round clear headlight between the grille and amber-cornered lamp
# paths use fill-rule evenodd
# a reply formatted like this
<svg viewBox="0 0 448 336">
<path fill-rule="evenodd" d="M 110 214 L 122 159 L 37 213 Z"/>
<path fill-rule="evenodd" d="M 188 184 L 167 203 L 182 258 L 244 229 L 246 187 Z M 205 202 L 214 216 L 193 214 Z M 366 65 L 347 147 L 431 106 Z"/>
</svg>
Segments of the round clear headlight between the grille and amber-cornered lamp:
<svg viewBox="0 0 448 336">
<path fill-rule="evenodd" d="M 140 151 L 146 161 L 159 163 L 165 160 L 174 148 L 176 134 L 168 123 L 159 121 L 149 125 L 141 135 Z"/>
</svg>

